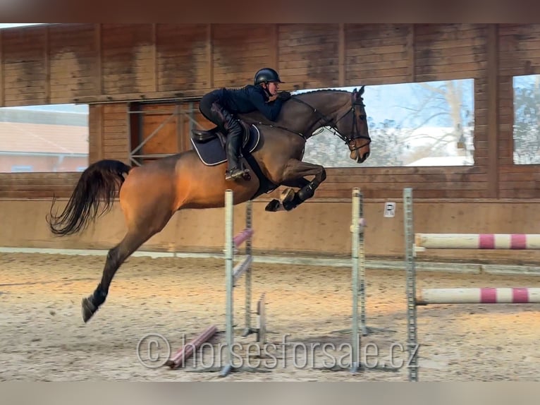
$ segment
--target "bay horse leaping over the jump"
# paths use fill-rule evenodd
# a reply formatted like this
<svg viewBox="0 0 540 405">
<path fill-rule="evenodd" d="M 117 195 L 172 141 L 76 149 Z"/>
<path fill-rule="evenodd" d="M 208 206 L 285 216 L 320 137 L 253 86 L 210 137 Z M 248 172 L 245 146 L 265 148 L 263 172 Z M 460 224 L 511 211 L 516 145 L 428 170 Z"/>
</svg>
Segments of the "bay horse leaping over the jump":
<svg viewBox="0 0 540 405">
<path fill-rule="evenodd" d="M 106 255 L 102 279 L 93 294 L 82 298 L 82 319 L 87 322 L 109 293 L 118 267 L 149 238 L 160 232 L 173 214 L 183 208 L 223 207 L 225 191 L 233 191 L 234 204 L 253 200 L 278 186 L 286 186 L 280 200 L 271 200 L 266 211 L 293 210 L 312 198 L 326 179 L 324 167 L 302 162 L 306 141 L 321 127 L 329 127 L 348 145 L 350 158 L 358 163 L 369 156 L 369 131 L 360 90 L 314 90 L 293 95 L 283 104 L 276 122 L 255 112 L 239 114 L 246 129 L 242 161 L 255 176 L 226 181 L 226 161 L 204 158 L 206 148 L 224 157 L 219 128 L 192 131 L 194 148 L 163 157 L 140 167 L 103 159 L 82 172 L 63 211 L 47 222 L 56 236 L 82 231 L 111 210 L 118 195 L 127 231 Z M 250 139 L 248 139 L 250 138 Z M 211 146 L 214 145 L 214 146 Z M 216 147 L 216 145 L 218 145 Z M 215 155 L 215 153 L 214 153 Z M 206 159 L 206 162 L 205 160 Z M 314 176 L 308 180 L 306 176 Z M 293 191 L 292 188 L 299 188 Z"/>
</svg>

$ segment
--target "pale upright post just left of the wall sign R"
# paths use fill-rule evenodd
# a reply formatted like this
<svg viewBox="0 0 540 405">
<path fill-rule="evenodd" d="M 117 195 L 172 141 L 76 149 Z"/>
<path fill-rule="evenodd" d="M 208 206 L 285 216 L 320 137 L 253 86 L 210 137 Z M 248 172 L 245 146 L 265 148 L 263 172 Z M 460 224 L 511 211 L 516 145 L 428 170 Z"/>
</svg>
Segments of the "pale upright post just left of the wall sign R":
<svg viewBox="0 0 540 405">
<path fill-rule="evenodd" d="M 352 364 L 351 372 L 356 373 L 360 367 L 360 339 L 358 337 L 358 247 L 360 229 L 360 189 L 352 189 L 352 223 L 351 231 L 351 263 L 352 263 Z"/>
</svg>

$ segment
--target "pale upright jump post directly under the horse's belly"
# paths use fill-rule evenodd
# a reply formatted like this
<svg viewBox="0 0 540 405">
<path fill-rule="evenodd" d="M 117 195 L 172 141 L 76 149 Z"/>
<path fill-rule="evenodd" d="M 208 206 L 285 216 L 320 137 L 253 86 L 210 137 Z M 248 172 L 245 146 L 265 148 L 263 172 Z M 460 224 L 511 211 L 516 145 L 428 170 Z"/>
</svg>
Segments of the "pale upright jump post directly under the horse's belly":
<svg viewBox="0 0 540 405">
<path fill-rule="evenodd" d="M 221 375 L 225 376 L 230 373 L 233 367 L 233 191 L 227 189 L 225 191 L 225 279 L 226 279 L 226 342 L 227 349 L 225 351 L 226 358 L 221 370 Z"/>
</svg>

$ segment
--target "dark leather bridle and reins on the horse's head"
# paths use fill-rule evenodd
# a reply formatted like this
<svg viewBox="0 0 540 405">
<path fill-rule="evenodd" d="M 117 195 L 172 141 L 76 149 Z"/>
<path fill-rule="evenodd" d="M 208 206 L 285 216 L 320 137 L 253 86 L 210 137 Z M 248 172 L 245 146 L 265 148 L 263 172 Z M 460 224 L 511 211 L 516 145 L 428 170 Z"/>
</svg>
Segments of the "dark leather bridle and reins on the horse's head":
<svg viewBox="0 0 540 405">
<path fill-rule="evenodd" d="M 367 145 L 369 145 L 372 142 L 372 138 L 369 138 L 369 135 L 362 135 L 360 133 L 360 126 L 358 125 L 357 119 L 365 120 L 365 119 L 367 119 L 367 116 L 366 116 L 365 112 L 362 113 L 362 111 L 364 111 L 364 107 L 365 107 L 363 99 L 362 99 L 362 97 L 356 98 L 355 97 L 355 92 L 353 92 L 352 95 L 351 95 L 350 109 L 348 109 L 348 111 L 346 111 L 342 116 L 340 116 L 338 119 L 336 119 L 336 121 L 329 118 L 328 116 L 325 116 L 324 114 L 321 113 L 321 111 L 318 111 L 316 108 L 312 107 L 312 105 L 308 104 L 307 102 L 305 102 L 302 99 L 298 99 L 296 97 L 291 97 L 290 99 L 294 100 L 295 102 L 305 104 L 307 107 L 312 109 L 313 114 L 315 114 L 319 118 L 316 121 L 316 123 L 319 123 L 319 121 L 320 121 L 322 123 L 321 126 L 329 127 L 331 133 L 333 133 L 333 135 L 336 135 L 338 138 L 343 140 L 343 142 L 345 142 L 345 145 L 348 146 L 348 148 L 349 148 L 349 150 L 351 152 L 354 151 L 354 150 L 362 149 L 362 147 L 366 147 Z M 359 109 L 358 114 L 357 114 L 357 109 Z M 344 119 L 345 116 L 348 116 L 349 114 L 354 115 L 354 118 L 352 119 L 352 128 L 351 128 L 352 136 L 350 138 L 346 137 L 345 135 L 342 135 L 338 131 L 338 128 L 337 128 L 338 122 L 341 121 L 342 119 Z M 271 126 L 271 127 L 274 127 L 274 128 L 283 129 L 283 130 L 291 132 L 291 133 L 295 133 L 296 135 L 300 135 L 305 140 L 307 140 L 308 138 L 310 138 L 312 136 L 311 133 L 308 134 L 308 135 L 305 135 L 305 134 L 297 132 L 297 131 L 292 131 L 289 128 L 284 128 L 282 126 L 276 126 L 276 125 L 269 124 L 269 123 L 259 122 L 259 124 L 263 124 L 263 125 L 266 125 L 266 126 Z M 321 130 L 321 131 L 323 131 L 323 130 Z M 365 140 L 367 140 L 367 143 L 364 143 L 363 145 L 355 147 L 355 140 L 357 140 L 357 139 L 365 139 Z"/>
</svg>

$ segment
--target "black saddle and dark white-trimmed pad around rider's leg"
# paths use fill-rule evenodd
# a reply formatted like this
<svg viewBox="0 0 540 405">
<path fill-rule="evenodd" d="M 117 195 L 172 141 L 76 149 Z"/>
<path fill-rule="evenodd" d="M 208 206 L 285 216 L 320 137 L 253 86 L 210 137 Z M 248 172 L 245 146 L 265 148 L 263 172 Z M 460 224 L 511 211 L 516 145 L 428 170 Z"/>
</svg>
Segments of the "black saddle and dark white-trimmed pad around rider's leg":
<svg viewBox="0 0 540 405">
<path fill-rule="evenodd" d="M 259 144 L 259 128 L 239 121 L 243 128 L 242 146 L 240 152 L 247 155 L 255 150 Z M 227 137 L 219 127 L 209 130 L 193 129 L 191 131 L 191 143 L 202 163 L 207 166 L 215 166 L 227 161 L 226 156 Z"/>
</svg>

